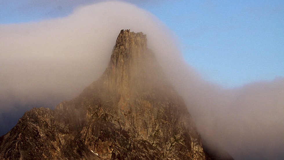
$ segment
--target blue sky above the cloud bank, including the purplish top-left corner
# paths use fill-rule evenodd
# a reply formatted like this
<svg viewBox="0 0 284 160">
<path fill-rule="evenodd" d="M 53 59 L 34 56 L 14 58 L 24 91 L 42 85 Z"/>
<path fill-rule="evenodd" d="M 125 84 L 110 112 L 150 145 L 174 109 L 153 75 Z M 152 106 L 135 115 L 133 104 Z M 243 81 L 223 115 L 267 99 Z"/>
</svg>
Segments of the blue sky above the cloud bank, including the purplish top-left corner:
<svg viewBox="0 0 284 160">
<path fill-rule="evenodd" d="M 77 5 L 0 1 L 0 23 L 63 17 Z M 66 1 L 65 1 L 66 2 Z M 284 1 L 136 1 L 179 38 L 184 59 L 223 87 L 284 76 Z"/>
</svg>

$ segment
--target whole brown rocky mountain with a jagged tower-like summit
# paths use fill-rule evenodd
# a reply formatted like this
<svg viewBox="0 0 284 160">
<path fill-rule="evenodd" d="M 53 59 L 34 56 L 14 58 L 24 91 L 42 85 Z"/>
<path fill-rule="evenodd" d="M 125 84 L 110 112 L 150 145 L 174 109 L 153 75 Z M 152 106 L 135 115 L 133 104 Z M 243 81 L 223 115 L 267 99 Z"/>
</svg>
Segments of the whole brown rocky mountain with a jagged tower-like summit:
<svg viewBox="0 0 284 160">
<path fill-rule="evenodd" d="M 54 110 L 27 111 L 0 137 L 0 159 L 222 158 L 204 151 L 146 35 L 121 30 L 103 75 Z"/>
</svg>

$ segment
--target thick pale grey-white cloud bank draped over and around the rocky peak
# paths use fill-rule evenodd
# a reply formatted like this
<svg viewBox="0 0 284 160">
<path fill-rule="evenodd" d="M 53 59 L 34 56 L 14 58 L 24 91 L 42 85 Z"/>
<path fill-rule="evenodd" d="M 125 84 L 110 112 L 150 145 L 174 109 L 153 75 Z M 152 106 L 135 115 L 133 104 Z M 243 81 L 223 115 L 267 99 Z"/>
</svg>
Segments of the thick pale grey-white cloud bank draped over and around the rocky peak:
<svg viewBox="0 0 284 160">
<path fill-rule="evenodd" d="M 148 47 L 184 98 L 206 144 L 235 159 L 284 157 L 283 78 L 234 89 L 207 82 L 183 60 L 177 38 L 162 22 L 125 2 L 81 6 L 67 17 L 36 23 L 0 25 L 0 121 L 34 105 L 53 108 L 79 95 L 107 67 L 121 29 L 147 34 Z"/>
</svg>

